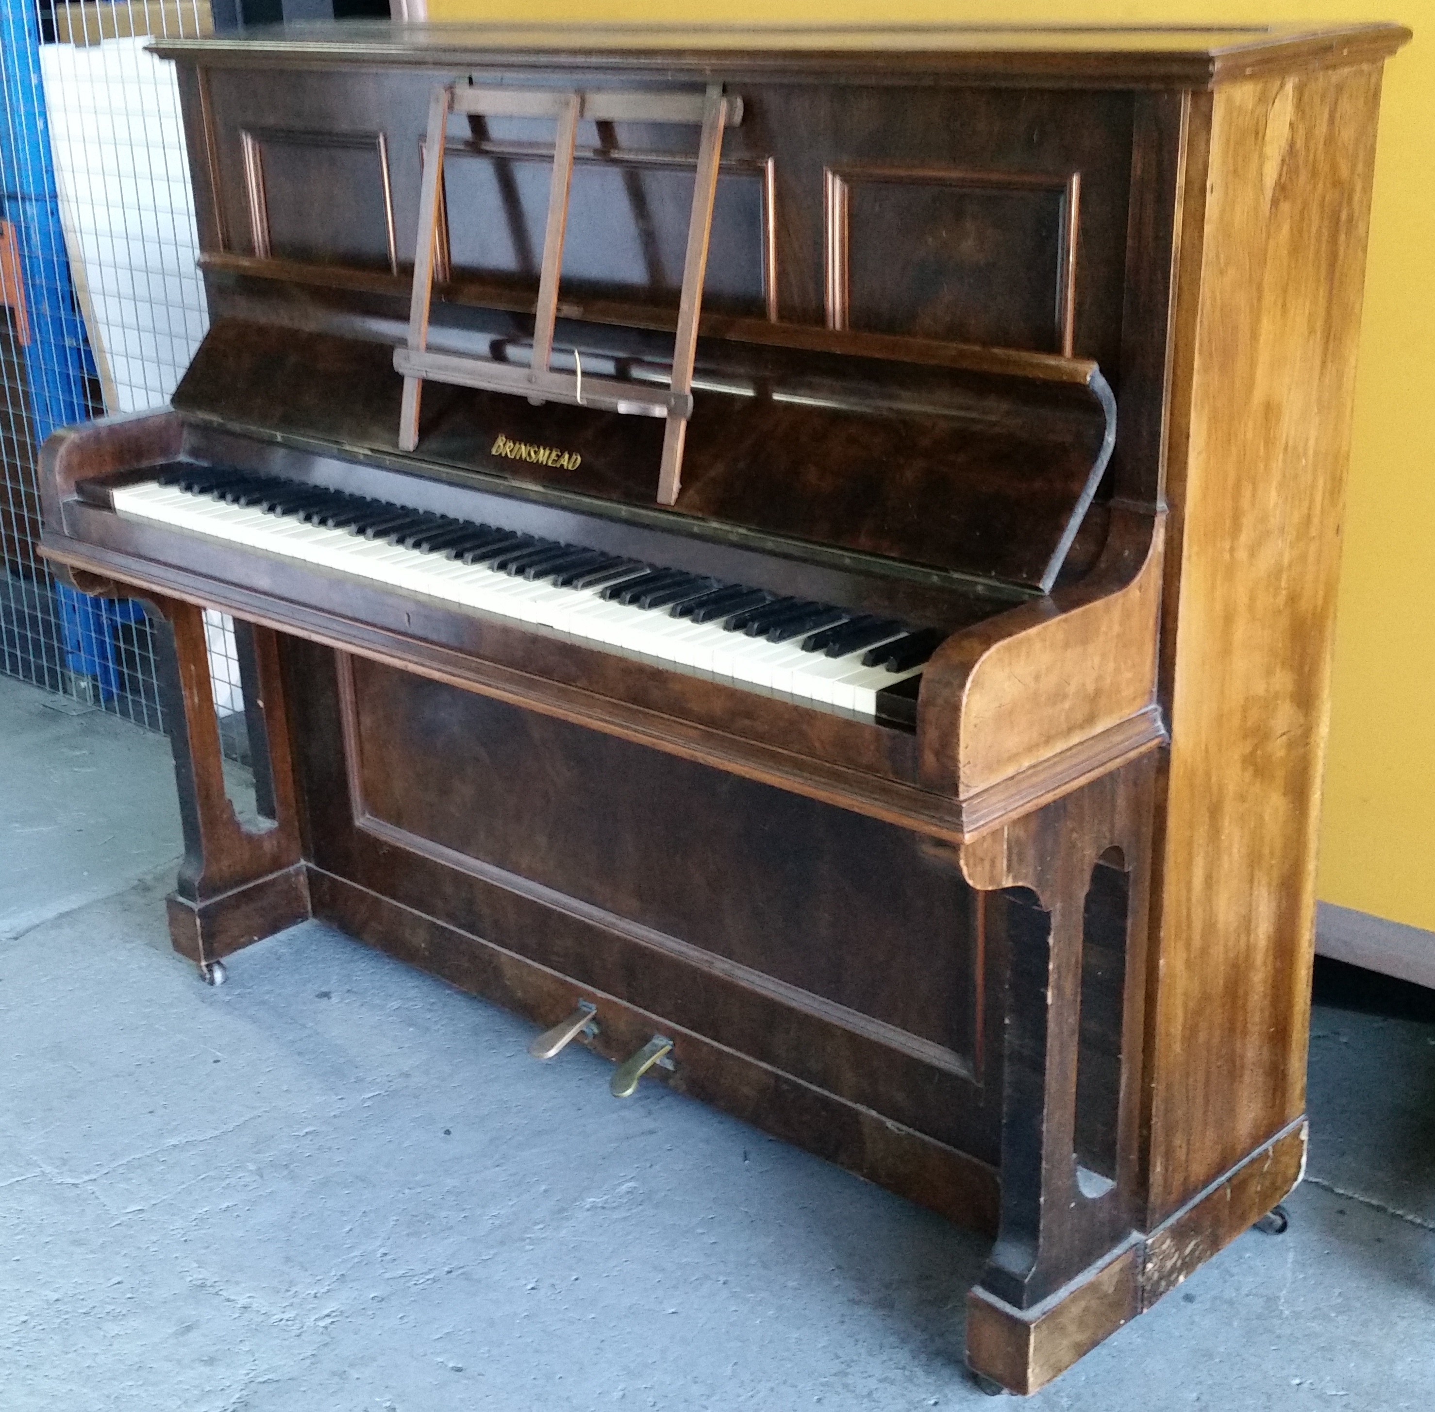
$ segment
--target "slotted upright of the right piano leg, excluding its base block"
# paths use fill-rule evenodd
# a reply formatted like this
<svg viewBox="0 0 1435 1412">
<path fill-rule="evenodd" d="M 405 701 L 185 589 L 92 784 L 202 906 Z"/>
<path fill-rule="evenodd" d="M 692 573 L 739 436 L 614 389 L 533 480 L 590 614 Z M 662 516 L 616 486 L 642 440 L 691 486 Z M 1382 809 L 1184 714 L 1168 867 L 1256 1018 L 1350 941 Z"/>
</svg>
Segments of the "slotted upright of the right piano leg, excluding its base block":
<svg viewBox="0 0 1435 1412">
<path fill-rule="evenodd" d="M 1148 756 L 961 849 L 967 881 L 1007 895 L 1002 1230 L 982 1286 L 1016 1309 L 1048 1299 L 1137 1224 L 1154 773 Z M 1119 874 L 1124 893 L 1121 916 L 1106 921 L 1089 897 L 1102 868 Z M 1099 949 L 1114 964 L 1095 984 Z M 1108 1033 L 1093 1049 L 1098 1013 Z M 1092 1125 L 1078 1112 L 1079 1072 L 1102 1050 L 1116 1066 L 1086 1106 L 1108 1142 L 1086 1161 L 1108 1169 L 1082 1175 Z"/>
</svg>

